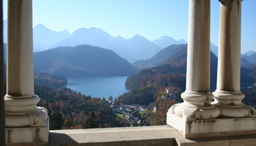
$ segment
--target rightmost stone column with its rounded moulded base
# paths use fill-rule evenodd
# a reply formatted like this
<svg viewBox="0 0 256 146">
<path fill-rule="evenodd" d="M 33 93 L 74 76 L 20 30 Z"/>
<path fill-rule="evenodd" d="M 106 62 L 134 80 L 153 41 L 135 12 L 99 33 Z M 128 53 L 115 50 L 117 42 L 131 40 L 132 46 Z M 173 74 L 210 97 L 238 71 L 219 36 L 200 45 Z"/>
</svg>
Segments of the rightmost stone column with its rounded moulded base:
<svg viewBox="0 0 256 146">
<path fill-rule="evenodd" d="M 220 0 L 220 41 L 215 104 L 222 117 L 255 116 L 255 109 L 245 107 L 240 91 L 241 2 Z M 253 114 L 254 112 L 254 114 Z"/>
</svg>

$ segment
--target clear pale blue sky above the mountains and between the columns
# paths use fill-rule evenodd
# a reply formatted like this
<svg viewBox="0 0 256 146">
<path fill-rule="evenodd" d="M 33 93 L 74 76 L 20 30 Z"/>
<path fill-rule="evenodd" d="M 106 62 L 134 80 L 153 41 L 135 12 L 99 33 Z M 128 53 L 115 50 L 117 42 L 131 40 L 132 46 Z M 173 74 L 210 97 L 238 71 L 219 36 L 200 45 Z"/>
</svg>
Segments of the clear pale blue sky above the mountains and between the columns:
<svg viewBox="0 0 256 146">
<path fill-rule="evenodd" d="M 4 0 L 4 19 L 7 0 Z M 241 52 L 256 51 L 256 1 L 242 2 Z M 79 28 L 101 28 L 116 37 L 136 34 L 149 40 L 168 35 L 188 38 L 189 0 L 34 0 L 33 25 L 70 33 Z M 220 2 L 211 1 L 211 42 L 219 44 Z"/>
</svg>

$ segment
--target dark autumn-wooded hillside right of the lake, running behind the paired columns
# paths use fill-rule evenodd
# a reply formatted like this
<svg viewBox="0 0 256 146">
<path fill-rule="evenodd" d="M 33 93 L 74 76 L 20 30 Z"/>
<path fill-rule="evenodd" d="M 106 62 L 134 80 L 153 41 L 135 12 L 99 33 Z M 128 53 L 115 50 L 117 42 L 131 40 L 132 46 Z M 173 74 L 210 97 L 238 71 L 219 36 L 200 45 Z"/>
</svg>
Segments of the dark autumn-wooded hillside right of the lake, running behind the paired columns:
<svg viewBox="0 0 256 146">
<path fill-rule="evenodd" d="M 187 49 L 183 48 L 162 65 L 143 69 L 127 78 L 126 88 L 138 90 L 150 85 L 157 88 L 174 86 L 185 89 L 185 74 L 187 70 Z M 211 52 L 210 87 L 216 88 L 217 57 Z M 163 90 L 163 89 L 162 89 Z"/>
</svg>

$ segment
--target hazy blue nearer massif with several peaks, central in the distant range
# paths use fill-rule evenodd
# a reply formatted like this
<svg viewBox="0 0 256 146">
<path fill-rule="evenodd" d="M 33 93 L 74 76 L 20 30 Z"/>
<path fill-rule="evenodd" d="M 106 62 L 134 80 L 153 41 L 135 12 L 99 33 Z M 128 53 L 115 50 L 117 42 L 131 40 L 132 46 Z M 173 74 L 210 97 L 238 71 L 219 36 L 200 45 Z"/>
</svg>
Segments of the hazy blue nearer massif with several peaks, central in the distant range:
<svg viewBox="0 0 256 146">
<path fill-rule="evenodd" d="M 143 36 L 135 35 L 130 39 L 120 36 L 113 37 L 100 28 L 78 29 L 70 37 L 54 44 L 52 48 L 64 46 L 75 47 L 79 44 L 89 44 L 111 49 L 129 62 L 150 58 L 162 49 Z"/>
</svg>

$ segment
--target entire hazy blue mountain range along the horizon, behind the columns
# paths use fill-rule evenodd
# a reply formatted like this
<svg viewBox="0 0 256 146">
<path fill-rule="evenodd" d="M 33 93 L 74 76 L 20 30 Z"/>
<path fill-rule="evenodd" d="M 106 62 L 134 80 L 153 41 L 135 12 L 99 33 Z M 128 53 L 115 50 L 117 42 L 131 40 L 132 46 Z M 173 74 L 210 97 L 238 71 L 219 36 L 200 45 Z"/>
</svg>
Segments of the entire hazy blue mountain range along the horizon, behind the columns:
<svg viewBox="0 0 256 146">
<path fill-rule="evenodd" d="M 4 21 L 4 43 L 7 41 L 7 19 Z M 121 36 L 113 37 L 106 31 L 97 28 L 80 28 L 69 34 L 68 30 L 53 31 L 42 24 L 33 29 L 34 52 L 57 47 L 75 47 L 89 44 L 116 52 L 129 62 L 149 59 L 159 50 L 172 44 L 186 44 L 184 39 L 176 41 L 169 36 L 162 36 L 149 41 L 143 36 L 135 35 L 130 39 Z M 217 47 L 211 43 L 211 50 L 217 56 Z"/>
</svg>

